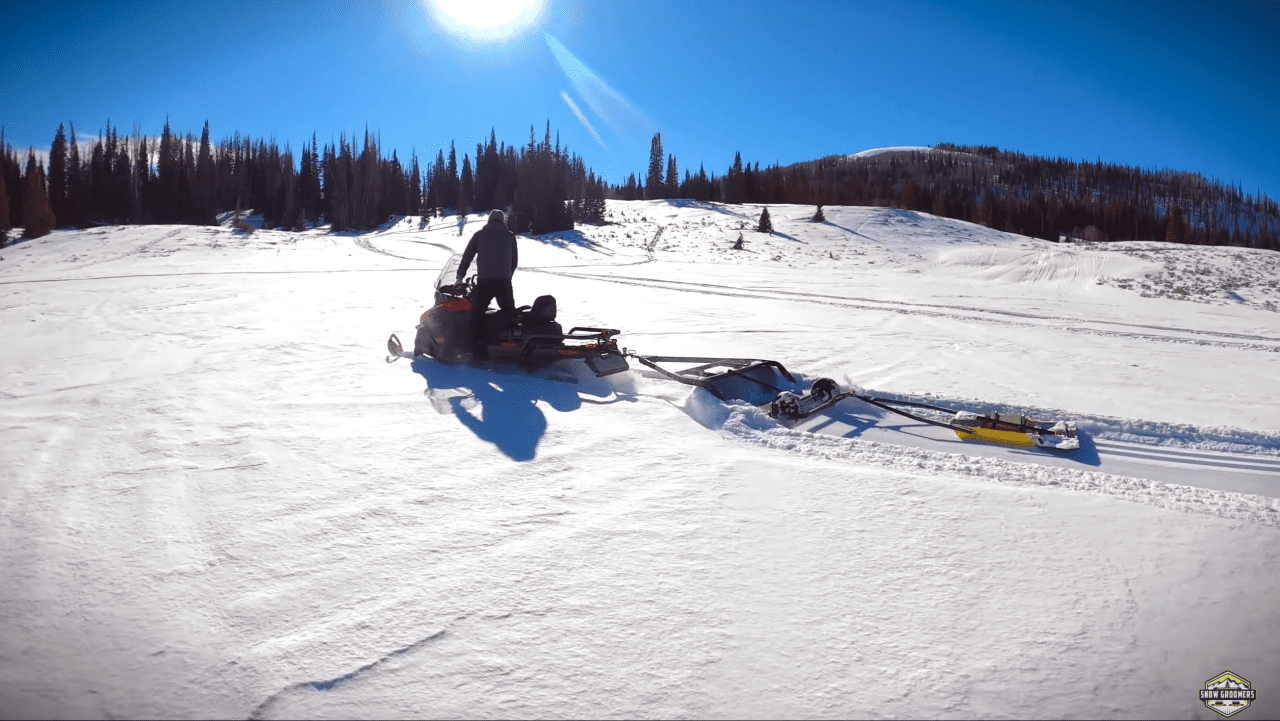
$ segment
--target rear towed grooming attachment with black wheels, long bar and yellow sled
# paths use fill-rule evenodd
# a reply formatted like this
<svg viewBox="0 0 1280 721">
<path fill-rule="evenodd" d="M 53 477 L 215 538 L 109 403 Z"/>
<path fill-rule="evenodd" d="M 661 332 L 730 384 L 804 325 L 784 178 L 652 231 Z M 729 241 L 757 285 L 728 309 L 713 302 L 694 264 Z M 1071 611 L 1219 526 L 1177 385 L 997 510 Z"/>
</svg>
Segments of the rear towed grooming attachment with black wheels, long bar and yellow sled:
<svg viewBox="0 0 1280 721">
<path fill-rule="evenodd" d="M 1075 428 L 1074 420 L 1042 421 L 1028 419 L 1020 414 L 1001 414 L 997 411 L 978 414 L 974 411 L 956 411 L 952 409 L 943 409 L 911 401 L 876 398 L 872 396 L 859 394 L 855 389 L 840 391 L 840 385 L 829 378 L 819 378 L 818 380 L 814 380 L 813 385 L 809 387 L 809 392 L 803 396 L 790 391 L 778 393 L 777 398 L 763 405 L 762 407 L 764 407 L 772 417 L 782 421 L 796 421 L 815 412 L 827 410 L 845 398 L 858 398 L 859 401 L 901 416 L 906 416 L 911 420 L 948 428 L 954 430 L 961 441 L 983 441 L 988 443 L 1021 447 L 1036 446 L 1038 448 L 1052 448 L 1055 451 L 1075 451 L 1080 447 L 1079 433 Z M 951 417 L 947 420 L 929 419 L 905 411 L 902 407 L 937 411 Z"/>
</svg>

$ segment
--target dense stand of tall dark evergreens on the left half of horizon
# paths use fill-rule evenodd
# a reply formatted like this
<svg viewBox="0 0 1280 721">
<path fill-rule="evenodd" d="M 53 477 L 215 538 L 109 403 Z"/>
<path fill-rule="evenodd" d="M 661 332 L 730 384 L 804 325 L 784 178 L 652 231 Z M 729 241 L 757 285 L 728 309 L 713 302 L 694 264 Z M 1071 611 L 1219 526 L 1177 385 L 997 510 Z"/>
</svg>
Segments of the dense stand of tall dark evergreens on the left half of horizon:
<svg viewBox="0 0 1280 721">
<path fill-rule="evenodd" d="M 451 143 L 420 164 L 383 155 L 367 129 L 320 146 L 315 134 L 296 156 L 285 143 L 239 133 L 216 143 L 209 123 L 200 138 L 169 123 L 159 138 L 129 136 L 106 124 L 81 152 L 76 127 L 58 127 L 49 170 L 28 152 L 26 170 L 0 133 L 0 231 L 24 227 L 28 237 L 55 227 L 182 223 L 209 225 L 221 214 L 252 209 L 268 228 L 302 229 L 328 222 L 333 231 L 376 228 L 396 215 L 443 215 L 509 209 L 517 232 L 550 233 L 575 223 L 603 223 L 605 183 L 581 156 L 552 141 L 488 143 L 462 155 Z M 70 140 L 68 140 L 70 138 Z M 44 215 L 41 209 L 45 210 Z"/>
</svg>

